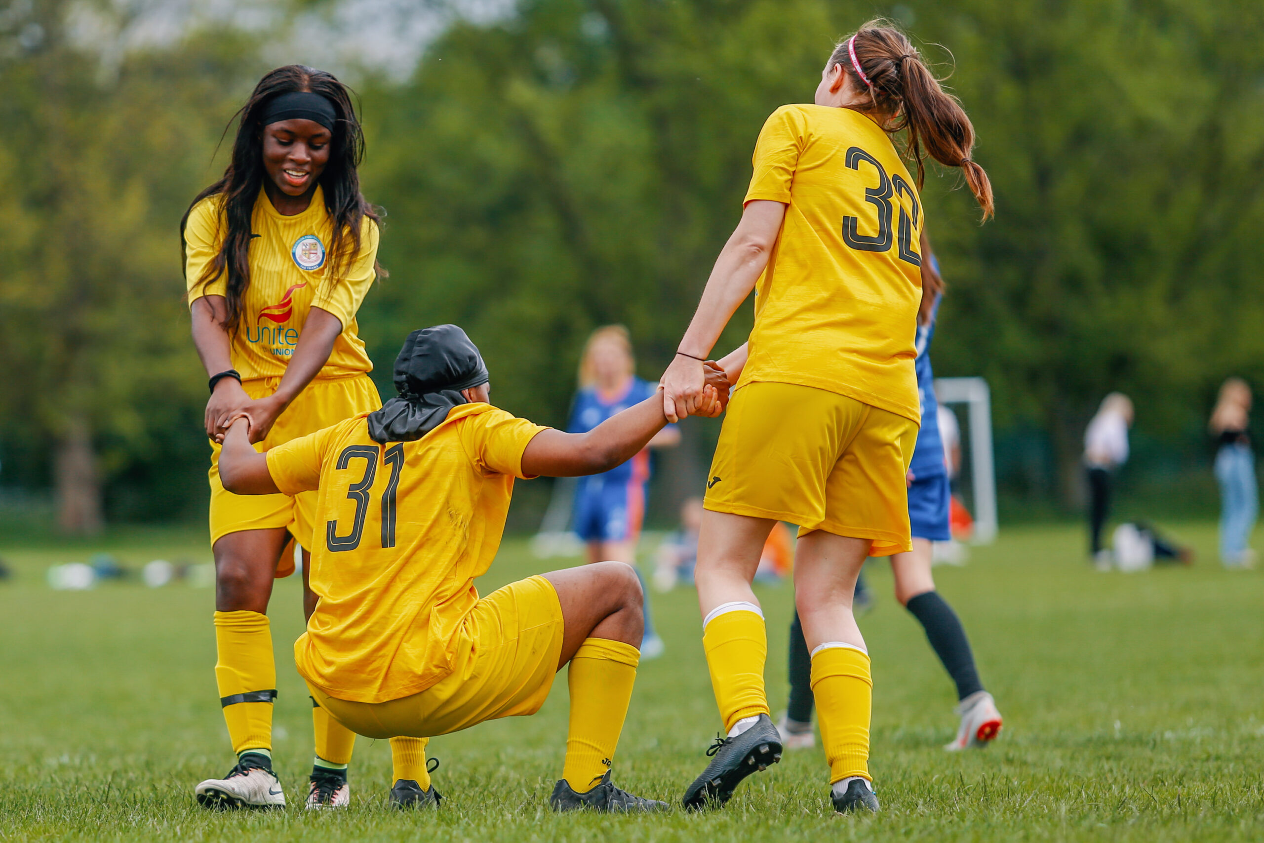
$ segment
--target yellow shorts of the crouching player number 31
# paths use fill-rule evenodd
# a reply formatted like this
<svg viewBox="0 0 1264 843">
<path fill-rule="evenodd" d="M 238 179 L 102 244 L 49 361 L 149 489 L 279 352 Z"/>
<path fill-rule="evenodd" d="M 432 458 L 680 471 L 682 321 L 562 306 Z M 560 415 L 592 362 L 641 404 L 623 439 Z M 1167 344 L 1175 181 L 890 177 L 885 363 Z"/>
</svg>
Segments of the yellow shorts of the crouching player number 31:
<svg viewBox="0 0 1264 843">
<path fill-rule="evenodd" d="M 484 720 L 535 714 L 561 656 L 561 603 L 542 576 L 511 583 L 474 604 L 458 633 L 453 672 L 420 694 L 349 703 L 310 682 L 335 720 L 367 738 L 432 738 Z"/>
</svg>

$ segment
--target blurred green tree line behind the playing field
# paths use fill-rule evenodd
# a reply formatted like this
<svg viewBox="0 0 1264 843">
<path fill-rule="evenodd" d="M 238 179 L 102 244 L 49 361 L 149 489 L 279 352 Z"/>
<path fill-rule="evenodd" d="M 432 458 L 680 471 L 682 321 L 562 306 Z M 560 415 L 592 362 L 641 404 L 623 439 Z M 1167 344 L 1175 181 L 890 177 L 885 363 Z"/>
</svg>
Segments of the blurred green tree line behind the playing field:
<svg viewBox="0 0 1264 843">
<path fill-rule="evenodd" d="M 258 76 L 305 56 L 204 28 L 105 62 L 75 8 L 0 8 L 0 487 L 56 489 L 68 530 L 196 518 L 205 374 L 177 224 Z M 444 321 L 479 343 L 497 402 L 537 421 L 565 421 L 597 325 L 628 325 L 656 377 L 763 119 L 809 101 L 833 40 L 875 11 L 951 73 L 996 188 L 980 226 L 953 172 L 928 177 L 949 284 L 937 373 L 988 379 L 1002 439 L 1048 451 L 1048 499 L 1073 500 L 1111 389 L 1144 440 L 1202 459 L 1220 380 L 1264 383 L 1264 6 L 1229 0 L 523 0 L 455 23 L 402 81 L 348 75 L 388 214 L 392 274 L 360 318 L 383 392 L 401 337 Z M 712 436 L 693 437 L 702 468 Z"/>
</svg>

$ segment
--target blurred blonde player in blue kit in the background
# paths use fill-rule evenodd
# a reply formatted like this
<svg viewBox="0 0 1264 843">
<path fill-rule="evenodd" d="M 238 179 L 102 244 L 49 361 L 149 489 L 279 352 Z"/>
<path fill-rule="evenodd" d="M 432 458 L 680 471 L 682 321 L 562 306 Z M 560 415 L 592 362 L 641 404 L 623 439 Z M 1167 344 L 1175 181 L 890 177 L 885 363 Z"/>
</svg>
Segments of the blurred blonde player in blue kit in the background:
<svg viewBox="0 0 1264 843">
<path fill-rule="evenodd" d="M 579 363 L 579 392 L 575 393 L 571 434 L 586 434 L 603 421 L 623 412 L 657 392 L 657 384 L 636 377 L 632 339 L 622 325 L 599 327 L 584 344 Z M 664 427 L 648 447 L 671 447 L 680 442 L 680 428 Z M 604 474 L 583 476 L 575 484 L 575 532 L 586 545 L 589 562 L 627 562 L 641 576 L 636 564 L 637 541 L 645 519 L 646 484 L 650 482 L 650 451 L 640 451 L 627 463 Z M 645 579 L 641 580 L 642 586 Z M 648 589 L 646 589 L 648 591 Z M 650 599 L 645 603 L 645 641 L 641 658 L 662 655 L 662 638 L 653 629 Z"/>
</svg>

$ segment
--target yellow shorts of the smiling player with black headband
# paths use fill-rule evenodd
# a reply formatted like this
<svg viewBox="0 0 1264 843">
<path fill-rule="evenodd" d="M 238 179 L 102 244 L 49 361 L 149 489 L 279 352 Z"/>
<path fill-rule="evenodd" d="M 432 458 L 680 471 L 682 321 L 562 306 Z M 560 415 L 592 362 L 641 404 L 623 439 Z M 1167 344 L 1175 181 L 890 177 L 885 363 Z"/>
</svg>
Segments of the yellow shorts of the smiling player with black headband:
<svg viewBox="0 0 1264 843">
<path fill-rule="evenodd" d="M 270 396 L 281 378 L 255 378 L 241 385 L 252 398 Z M 378 388 L 367 374 L 337 378 L 316 378 L 298 393 L 295 403 L 277 418 L 267 439 L 255 444 L 257 451 L 284 445 L 289 440 L 315 434 L 356 413 L 373 412 L 382 406 Z M 316 492 L 303 492 L 293 498 L 287 494 L 233 494 L 220 483 L 220 446 L 211 442 L 211 545 L 224 536 L 243 530 L 287 527 L 300 545 L 311 550 L 316 517 Z M 293 559 L 281 555 L 278 576 L 293 574 Z"/>
</svg>

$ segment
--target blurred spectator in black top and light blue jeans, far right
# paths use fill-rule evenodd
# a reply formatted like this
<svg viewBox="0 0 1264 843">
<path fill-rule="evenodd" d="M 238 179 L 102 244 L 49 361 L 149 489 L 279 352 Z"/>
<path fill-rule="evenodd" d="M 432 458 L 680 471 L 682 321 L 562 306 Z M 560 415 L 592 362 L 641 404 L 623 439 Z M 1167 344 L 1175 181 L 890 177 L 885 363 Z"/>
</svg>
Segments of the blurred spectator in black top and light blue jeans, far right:
<svg viewBox="0 0 1264 843">
<path fill-rule="evenodd" d="M 1216 480 L 1220 482 L 1220 561 L 1225 567 L 1255 566 L 1255 551 L 1249 542 L 1259 513 L 1259 490 L 1248 432 L 1250 412 L 1251 388 L 1241 378 L 1226 380 L 1208 422 L 1220 440 Z"/>
</svg>

